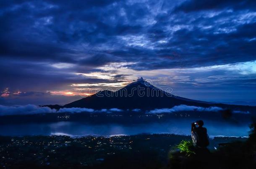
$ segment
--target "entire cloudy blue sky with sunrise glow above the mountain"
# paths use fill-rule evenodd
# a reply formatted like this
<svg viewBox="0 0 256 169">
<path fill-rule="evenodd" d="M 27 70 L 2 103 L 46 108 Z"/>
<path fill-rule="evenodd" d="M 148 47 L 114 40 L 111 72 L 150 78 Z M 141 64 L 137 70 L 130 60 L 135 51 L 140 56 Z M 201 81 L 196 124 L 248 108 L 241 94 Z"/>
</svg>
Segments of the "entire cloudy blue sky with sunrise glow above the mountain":
<svg viewBox="0 0 256 169">
<path fill-rule="evenodd" d="M 0 104 L 65 104 L 143 77 L 256 100 L 255 0 L 0 1 Z"/>
</svg>

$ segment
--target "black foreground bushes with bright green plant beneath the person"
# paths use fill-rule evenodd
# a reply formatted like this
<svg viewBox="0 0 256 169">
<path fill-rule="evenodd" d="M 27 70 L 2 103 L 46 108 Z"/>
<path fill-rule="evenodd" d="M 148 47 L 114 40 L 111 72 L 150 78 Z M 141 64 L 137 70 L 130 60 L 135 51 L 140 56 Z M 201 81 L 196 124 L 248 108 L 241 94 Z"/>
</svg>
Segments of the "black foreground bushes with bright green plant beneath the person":
<svg viewBox="0 0 256 169">
<path fill-rule="evenodd" d="M 219 144 L 215 151 L 191 146 L 190 141 L 178 144 L 180 151 L 170 152 L 168 168 L 172 169 L 255 169 L 256 123 L 251 125 L 246 141 Z"/>
</svg>

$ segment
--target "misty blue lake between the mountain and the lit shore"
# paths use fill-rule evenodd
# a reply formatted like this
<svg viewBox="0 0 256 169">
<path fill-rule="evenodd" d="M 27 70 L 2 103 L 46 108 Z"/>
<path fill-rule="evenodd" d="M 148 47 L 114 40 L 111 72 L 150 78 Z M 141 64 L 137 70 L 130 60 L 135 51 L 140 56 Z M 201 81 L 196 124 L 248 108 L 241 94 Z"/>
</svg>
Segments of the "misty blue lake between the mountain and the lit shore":
<svg viewBox="0 0 256 169">
<path fill-rule="evenodd" d="M 225 121 L 205 120 L 204 127 L 211 136 L 248 136 L 249 123 L 232 124 Z M 190 120 L 170 120 L 165 123 L 146 124 L 89 124 L 61 121 L 46 124 L 9 124 L 0 125 L 2 136 L 25 135 L 68 135 L 68 136 L 113 136 L 135 134 L 191 134 Z"/>
</svg>

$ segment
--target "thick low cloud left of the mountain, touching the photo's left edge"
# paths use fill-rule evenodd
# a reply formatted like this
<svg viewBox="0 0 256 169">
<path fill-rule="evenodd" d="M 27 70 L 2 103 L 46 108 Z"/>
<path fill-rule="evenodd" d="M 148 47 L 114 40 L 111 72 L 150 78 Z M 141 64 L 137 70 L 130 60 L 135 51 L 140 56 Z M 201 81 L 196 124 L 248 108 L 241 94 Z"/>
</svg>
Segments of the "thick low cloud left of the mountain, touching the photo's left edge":
<svg viewBox="0 0 256 169">
<path fill-rule="evenodd" d="M 0 116 L 5 115 L 26 115 L 26 114 L 45 114 L 56 113 L 55 109 L 40 107 L 33 104 L 24 106 L 3 106 L 0 105 Z"/>
</svg>

